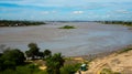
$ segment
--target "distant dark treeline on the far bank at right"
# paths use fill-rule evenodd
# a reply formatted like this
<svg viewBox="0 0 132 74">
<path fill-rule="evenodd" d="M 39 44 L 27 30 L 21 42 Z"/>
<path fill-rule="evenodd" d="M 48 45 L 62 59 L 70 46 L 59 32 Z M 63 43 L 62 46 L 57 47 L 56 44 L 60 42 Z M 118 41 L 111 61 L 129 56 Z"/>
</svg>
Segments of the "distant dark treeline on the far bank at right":
<svg viewBox="0 0 132 74">
<path fill-rule="evenodd" d="M 105 24 L 123 24 L 128 27 L 132 27 L 132 21 L 96 21 Z"/>
</svg>

